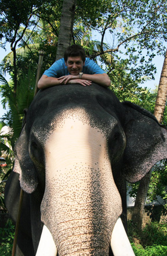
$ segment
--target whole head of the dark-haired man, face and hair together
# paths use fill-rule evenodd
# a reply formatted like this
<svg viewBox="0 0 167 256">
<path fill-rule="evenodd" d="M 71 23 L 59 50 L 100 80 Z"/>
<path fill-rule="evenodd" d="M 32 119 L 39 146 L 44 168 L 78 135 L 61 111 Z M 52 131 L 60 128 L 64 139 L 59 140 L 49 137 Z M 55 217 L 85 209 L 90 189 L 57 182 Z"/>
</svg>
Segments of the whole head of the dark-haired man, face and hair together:
<svg viewBox="0 0 167 256">
<path fill-rule="evenodd" d="M 83 65 L 85 65 L 85 51 L 79 45 L 71 45 L 64 52 L 64 61 L 68 72 L 73 76 L 77 76 L 82 72 Z"/>
</svg>

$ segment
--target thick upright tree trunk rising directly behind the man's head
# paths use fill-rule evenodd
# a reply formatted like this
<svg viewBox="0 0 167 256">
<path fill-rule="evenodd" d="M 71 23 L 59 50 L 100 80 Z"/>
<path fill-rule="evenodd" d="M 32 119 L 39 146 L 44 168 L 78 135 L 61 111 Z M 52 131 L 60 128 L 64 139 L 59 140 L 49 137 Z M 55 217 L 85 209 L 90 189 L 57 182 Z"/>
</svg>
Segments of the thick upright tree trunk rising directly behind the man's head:
<svg viewBox="0 0 167 256">
<path fill-rule="evenodd" d="M 77 0 L 64 0 L 60 20 L 60 31 L 57 45 L 56 61 L 63 58 L 65 49 L 70 46 Z"/>
</svg>

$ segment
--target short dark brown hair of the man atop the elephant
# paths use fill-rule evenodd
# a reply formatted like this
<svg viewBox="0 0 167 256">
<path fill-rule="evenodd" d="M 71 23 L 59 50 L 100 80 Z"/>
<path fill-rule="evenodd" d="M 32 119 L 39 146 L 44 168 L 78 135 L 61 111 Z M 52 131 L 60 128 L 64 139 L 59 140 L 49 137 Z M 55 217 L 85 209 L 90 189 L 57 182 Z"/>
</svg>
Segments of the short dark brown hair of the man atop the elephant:
<svg viewBox="0 0 167 256">
<path fill-rule="evenodd" d="M 85 50 L 77 44 L 73 44 L 67 47 L 66 51 L 64 52 L 64 61 L 67 62 L 68 57 L 78 57 L 81 56 L 82 61 L 85 62 Z"/>
</svg>

